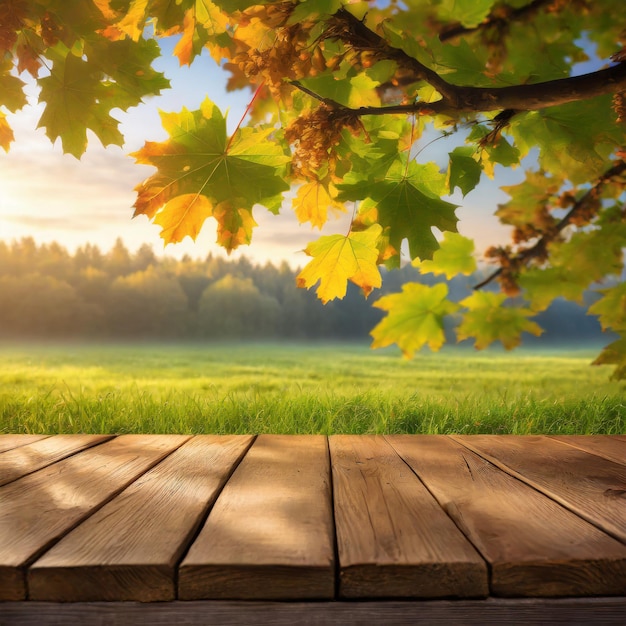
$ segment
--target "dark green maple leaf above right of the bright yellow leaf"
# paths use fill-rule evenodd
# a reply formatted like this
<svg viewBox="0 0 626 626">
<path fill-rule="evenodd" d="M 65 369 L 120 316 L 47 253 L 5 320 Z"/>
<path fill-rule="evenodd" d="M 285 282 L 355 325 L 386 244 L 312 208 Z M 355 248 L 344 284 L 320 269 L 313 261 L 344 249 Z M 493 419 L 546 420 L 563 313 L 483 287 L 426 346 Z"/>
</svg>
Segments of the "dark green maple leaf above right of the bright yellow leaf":
<svg viewBox="0 0 626 626">
<path fill-rule="evenodd" d="M 351 173 L 352 174 L 352 173 Z M 412 259 L 430 259 L 439 248 L 432 228 L 456 232 L 456 205 L 439 198 L 445 191 L 445 175 L 435 164 L 420 165 L 401 155 L 382 180 L 363 181 L 347 176 L 346 184 L 338 185 L 339 200 L 361 200 L 365 197 L 378 211 L 378 222 L 388 228 L 389 243 L 400 250 L 408 240 Z"/>
</svg>

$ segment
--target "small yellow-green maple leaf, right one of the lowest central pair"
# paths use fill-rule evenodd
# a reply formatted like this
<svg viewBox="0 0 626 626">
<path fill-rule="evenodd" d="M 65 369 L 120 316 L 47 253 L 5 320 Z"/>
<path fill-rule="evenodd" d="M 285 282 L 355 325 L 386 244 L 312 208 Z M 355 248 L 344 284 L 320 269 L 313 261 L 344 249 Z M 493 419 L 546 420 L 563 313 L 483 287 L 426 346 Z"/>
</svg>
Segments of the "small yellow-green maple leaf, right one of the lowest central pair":
<svg viewBox="0 0 626 626">
<path fill-rule="evenodd" d="M 510 350 L 520 344 L 523 332 L 541 335 L 541 328 L 528 319 L 534 315 L 533 311 L 506 307 L 503 305 L 506 299 L 505 294 L 476 291 L 462 300 L 461 305 L 468 311 L 456 331 L 459 341 L 473 337 L 475 347 L 482 350 L 499 340 Z"/>
</svg>

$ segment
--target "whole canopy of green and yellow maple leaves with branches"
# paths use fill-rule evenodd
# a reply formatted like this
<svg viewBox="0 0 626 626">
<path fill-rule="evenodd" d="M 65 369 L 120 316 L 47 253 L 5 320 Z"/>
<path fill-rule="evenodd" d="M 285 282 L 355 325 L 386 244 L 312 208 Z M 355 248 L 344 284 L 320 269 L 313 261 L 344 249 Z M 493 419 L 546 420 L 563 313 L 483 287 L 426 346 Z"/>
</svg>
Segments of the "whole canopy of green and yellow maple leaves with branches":
<svg viewBox="0 0 626 626">
<path fill-rule="evenodd" d="M 531 318 L 555 298 L 582 301 L 605 282 L 590 313 L 620 338 L 597 362 L 626 377 L 624 18 L 623 0 L 5 0 L 0 145 L 13 140 L 7 111 L 26 103 L 23 72 L 41 88 L 39 125 L 66 152 L 80 157 L 87 129 L 122 145 L 111 112 L 168 87 L 152 62 L 159 39 L 177 35 L 181 64 L 206 49 L 230 89 L 251 92 L 233 134 L 207 98 L 162 113 L 168 140 L 134 154 L 156 168 L 135 215 L 167 243 L 195 238 L 212 217 L 227 250 L 249 244 L 253 207 L 276 213 L 294 188 L 300 222 L 353 215 L 349 232 L 307 247 L 298 282 L 319 283 L 324 301 L 347 281 L 367 295 L 377 265 L 397 267 L 403 254 L 425 273 L 469 275 L 474 246 L 457 234 L 450 196 L 496 166 L 520 167 L 525 180 L 504 188 L 497 211 L 512 241 L 485 252 L 496 265 L 485 284 L 501 293 L 452 302 L 443 285 L 406 285 L 376 303 L 387 317 L 375 345 L 436 349 L 458 315 L 459 338 L 513 347 L 541 332 Z M 422 160 L 433 136 L 456 140 L 445 168 Z"/>
</svg>

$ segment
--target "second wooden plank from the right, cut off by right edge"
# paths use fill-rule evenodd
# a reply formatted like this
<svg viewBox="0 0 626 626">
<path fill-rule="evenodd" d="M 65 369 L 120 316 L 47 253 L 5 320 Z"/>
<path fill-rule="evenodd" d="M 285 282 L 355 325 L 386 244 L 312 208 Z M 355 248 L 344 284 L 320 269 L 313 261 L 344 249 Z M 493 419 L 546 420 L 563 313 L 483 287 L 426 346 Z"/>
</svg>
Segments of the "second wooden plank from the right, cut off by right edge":
<svg viewBox="0 0 626 626">
<path fill-rule="evenodd" d="M 626 467 L 548 437 L 453 438 L 626 543 Z"/>
</svg>

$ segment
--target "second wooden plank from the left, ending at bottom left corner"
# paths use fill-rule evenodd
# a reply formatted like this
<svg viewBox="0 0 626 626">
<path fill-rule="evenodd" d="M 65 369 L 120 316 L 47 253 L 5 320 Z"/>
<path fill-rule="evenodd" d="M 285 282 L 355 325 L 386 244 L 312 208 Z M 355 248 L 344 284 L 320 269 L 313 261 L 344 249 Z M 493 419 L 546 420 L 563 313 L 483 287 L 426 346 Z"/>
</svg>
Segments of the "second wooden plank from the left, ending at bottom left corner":
<svg viewBox="0 0 626 626">
<path fill-rule="evenodd" d="M 0 487 L 0 600 L 23 600 L 30 562 L 187 439 L 122 435 Z"/>
</svg>

